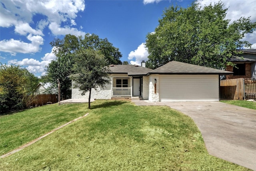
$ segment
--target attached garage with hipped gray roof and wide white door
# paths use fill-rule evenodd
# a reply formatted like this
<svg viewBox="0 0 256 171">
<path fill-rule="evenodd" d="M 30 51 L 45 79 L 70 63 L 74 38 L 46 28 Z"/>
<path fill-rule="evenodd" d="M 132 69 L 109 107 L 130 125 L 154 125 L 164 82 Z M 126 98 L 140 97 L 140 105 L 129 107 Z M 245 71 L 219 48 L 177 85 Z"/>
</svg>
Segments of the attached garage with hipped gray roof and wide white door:
<svg viewBox="0 0 256 171">
<path fill-rule="evenodd" d="M 220 75 L 232 74 L 172 61 L 148 73 L 150 101 L 218 101 Z"/>
</svg>

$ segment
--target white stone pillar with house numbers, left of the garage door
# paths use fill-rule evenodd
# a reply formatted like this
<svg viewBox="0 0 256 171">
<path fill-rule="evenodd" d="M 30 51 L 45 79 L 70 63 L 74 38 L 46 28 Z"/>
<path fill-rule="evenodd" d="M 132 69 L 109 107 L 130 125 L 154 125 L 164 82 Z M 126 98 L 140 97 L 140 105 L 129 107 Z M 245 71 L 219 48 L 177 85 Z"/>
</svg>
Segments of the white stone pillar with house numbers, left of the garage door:
<svg viewBox="0 0 256 171">
<path fill-rule="evenodd" d="M 155 93 L 155 79 L 156 79 L 156 93 Z M 149 94 L 148 100 L 152 102 L 159 101 L 159 75 L 153 74 L 149 76 Z"/>
</svg>

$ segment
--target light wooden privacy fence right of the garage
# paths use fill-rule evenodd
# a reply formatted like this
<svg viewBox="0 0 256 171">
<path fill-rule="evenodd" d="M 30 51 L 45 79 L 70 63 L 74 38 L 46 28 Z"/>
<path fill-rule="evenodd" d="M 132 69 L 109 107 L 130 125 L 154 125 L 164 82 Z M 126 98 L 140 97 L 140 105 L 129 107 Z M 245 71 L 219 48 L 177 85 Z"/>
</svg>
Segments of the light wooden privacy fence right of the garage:
<svg viewBox="0 0 256 171">
<path fill-rule="evenodd" d="M 244 79 L 220 80 L 220 99 L 244 99 Z"/>
</svg>

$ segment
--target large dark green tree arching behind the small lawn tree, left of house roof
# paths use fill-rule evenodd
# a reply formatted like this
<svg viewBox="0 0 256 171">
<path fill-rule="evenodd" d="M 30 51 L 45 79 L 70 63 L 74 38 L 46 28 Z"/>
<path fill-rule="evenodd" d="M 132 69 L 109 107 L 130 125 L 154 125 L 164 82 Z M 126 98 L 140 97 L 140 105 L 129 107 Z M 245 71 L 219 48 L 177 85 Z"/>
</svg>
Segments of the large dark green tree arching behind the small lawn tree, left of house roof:
<svg viewBox="0 0 256 171">
<path fill-rule="evenodd" d="M 50 44 L 54 47 L 57 59 L 47 67 L 47 81 L 57 87 L 57 80 L 60 80 L 61 99 L 70 98 L 71 81 L 67 76 L 74 74 L 72 68 L 75 58 L 82 49 L 98 51 L 106 59 L 106 65 L 122 64 L 120 61 L 122 54 L 119 49 L 115 48 L 106 38 L 101 39 L 96 34 L 86 34 L 84 37 L 67 34 L 63 39 L 55 39 Z"/>
</svg>

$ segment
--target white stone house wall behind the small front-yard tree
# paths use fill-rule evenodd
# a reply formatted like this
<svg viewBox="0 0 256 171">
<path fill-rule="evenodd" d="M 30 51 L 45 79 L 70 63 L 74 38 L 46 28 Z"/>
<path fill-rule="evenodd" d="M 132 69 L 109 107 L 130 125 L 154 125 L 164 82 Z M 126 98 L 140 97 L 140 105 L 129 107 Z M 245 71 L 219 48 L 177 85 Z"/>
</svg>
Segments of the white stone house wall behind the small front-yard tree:
<svg viewBox="0 0 256 171">
<path fill-rule="evenodd" d="M 74 85 L 74 81 L 72 81 L 72 87 Z M 81 95 L 82 91 L 79 91 L 78 88 L 72 88 L 72 99 L 88 99 L 89 91 L 86 92 L 85 95 Z M 111 85 L 106 85 L 106 87 L 98 87 L 96 90 L 92 89 L 91 99 L 111 99 Z"/>
</svg>

